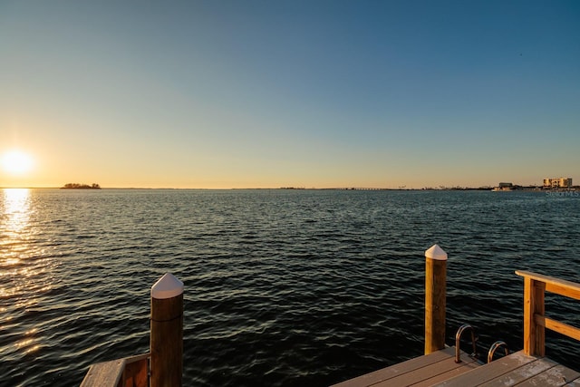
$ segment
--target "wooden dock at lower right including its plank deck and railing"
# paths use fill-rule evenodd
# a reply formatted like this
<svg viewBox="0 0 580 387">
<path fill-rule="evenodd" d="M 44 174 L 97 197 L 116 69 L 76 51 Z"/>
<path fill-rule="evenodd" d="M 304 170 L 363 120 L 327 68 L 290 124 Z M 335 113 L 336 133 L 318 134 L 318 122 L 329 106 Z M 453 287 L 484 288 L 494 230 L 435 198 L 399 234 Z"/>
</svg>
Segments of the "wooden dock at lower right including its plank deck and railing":
<svg viewBox="0 0 580 387">
<path fill-rule="evenodd" d="M 546 329 L 580 340 L 580 329 L 546 317 L 546 292 L 580 300 L 580 284 L 536 273 L 517 271 L 524 277 L 524 349 L 488 363 L 478 363 L 455 347 L 391 365 L 382 370 L 340 382 L 334 387 L 401 386 L 566 386 L 580 387 L 580 372 L 546 357 Z M 459 345 L 459 339 L 456 346 Z M 577 356 L 577 354 L 575 354 Z M 580 365 L 580 364 L 579 364 Z"/>
</svg>

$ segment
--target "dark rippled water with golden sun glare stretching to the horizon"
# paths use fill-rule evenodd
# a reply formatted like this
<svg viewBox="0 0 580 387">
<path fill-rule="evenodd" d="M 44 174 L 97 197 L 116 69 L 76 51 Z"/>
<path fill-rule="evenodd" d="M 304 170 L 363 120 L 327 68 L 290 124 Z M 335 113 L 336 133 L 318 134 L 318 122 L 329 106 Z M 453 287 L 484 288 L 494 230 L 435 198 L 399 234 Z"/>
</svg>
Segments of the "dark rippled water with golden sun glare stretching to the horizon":
<svg viewBox="0 0 580 387">
<path fill-rule="evenodd" d="M 423 351 L 424 251 L 448 343 L 522 347 L 516 269 L 580 282 L 580 198 L 542 192 L 0 190 L 0 385 L 78 385 L 145 353 L 150 286 L 186 286 L 184 385 L 322 386 Z M 548 314 L 580 326 L 577 303 Z M 580 364 L 580 345 L 547 334 Z"/>
</svg>

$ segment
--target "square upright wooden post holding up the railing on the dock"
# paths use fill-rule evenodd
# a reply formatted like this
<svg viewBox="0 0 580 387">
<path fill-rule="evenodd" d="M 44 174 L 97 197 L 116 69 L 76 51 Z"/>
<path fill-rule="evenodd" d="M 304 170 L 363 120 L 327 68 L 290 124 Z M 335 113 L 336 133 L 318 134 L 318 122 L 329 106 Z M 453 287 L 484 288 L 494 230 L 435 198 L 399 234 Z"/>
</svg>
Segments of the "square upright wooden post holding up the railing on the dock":
<svg viewBox="0 0 580 387">
<path fill-rule="evenodd" d="M 546 355 L 546 329 L 536 324 L 536 314 L 544 316 L 546 283 L 524 277 L 524 353 L 532 356 Z"/>
</svg>

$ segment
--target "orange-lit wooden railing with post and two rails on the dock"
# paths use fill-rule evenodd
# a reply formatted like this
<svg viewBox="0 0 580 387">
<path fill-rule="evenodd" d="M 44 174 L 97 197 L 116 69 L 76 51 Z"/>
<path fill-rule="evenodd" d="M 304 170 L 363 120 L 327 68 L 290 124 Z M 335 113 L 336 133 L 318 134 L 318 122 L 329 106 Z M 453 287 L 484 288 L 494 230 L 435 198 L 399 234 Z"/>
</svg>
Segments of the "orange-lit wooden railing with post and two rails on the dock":
<svg viewBox="0 0 580 387">
<path fill-rule="evenodd" d="M 516 274 L 524 277 L 524 352 L 546 355 L 546 328 L 580 341 L 580 329 L 546 317 L 544 304 L 546 292 L 580 300 L 580 284 L 521 270 Z"/>
</svg>

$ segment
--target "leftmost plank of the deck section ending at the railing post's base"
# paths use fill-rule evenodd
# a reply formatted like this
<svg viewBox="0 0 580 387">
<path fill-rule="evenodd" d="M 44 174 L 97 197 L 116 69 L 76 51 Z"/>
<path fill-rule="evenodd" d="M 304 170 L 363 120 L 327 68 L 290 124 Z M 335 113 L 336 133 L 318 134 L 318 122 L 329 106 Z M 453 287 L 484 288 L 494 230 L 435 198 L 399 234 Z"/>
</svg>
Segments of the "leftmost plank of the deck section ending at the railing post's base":
<svg viewBox="0 0 580 387">
<path fill-rule="evenodd" d="M 492 363 L 485 364 L 468 373 L 463 373 L 445 382 L 440 382 L 438 386 L 445 387 L 465 387 L 477 386 L 485 382 L 496 379 L 507 372 L 511 372 L 527 363 L 532 363 L 536 357 L 529 356 L 523 351 L 512 353 L 502 357 Z"/>
</svg>

